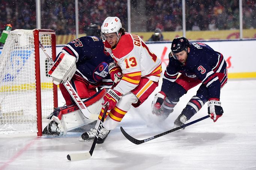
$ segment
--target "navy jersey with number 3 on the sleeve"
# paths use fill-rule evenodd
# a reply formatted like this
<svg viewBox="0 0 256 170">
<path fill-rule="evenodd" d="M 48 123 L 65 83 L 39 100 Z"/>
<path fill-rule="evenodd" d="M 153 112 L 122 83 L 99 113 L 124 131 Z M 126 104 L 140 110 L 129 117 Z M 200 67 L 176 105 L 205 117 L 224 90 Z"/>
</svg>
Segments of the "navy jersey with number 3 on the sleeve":
<svg viewBox="0 0 256 170">
<path fill-rule="evenodd" d="M 202 81 L 208 88 L 209 98 L 220 98 L 220 88 L 227 82 L 227 79 L 218 78 L 218 73 L 227 75 L 223 55 L 200 42 L 190 43 L 190 52 L 184 64 L 169 55 L 164 79 L 175 82 L 178 73 Z"/>
</svg>

